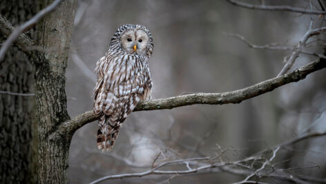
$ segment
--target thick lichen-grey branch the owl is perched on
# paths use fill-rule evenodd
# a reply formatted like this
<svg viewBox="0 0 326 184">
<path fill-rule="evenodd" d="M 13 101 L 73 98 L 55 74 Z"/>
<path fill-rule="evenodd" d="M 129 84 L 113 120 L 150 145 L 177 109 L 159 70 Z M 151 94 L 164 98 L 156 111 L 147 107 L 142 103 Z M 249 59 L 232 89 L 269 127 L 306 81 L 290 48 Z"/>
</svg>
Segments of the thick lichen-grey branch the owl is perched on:
<svg viewBox="0 0 326 184">
<path fill-rule="evenodd" d="M 318 61 L 308 63 L 307 65 L 298 68 L 289 74 L 278 76 L 274 79 L 269 79 L 241 90 L 222 93 L 195 93 L 174 96 L 167 99 L 146 100 L 138 103 L 134 111 L 164 110 L 194 104 L 222 105 L 227 103 L 240 103 L 241 101 L 251 99 L 255 96 L 259 96 L 260 94 L 270 92 L 287 83 L 305 79 L 308 74 L 323 68 L 326 68 L 326 62 L 323 61 L 323 59 L 318 59 Z M 52 139 L 71 135 L 79 127 L 95 120 L 97 120 L 97 117 L 93 111 L 85 112 L 84 114 L 81 114 L 74 119 L 59 125 L 57 131 L 52 134 Z"/>
</svg>

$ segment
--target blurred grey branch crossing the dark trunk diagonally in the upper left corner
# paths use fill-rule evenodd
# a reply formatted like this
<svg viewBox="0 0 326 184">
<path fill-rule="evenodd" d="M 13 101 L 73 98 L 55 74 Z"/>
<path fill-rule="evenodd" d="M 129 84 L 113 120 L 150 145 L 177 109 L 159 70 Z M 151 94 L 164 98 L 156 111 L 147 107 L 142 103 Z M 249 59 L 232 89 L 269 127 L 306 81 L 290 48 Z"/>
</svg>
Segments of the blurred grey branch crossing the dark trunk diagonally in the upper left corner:
<svg viewBox="0 0 326 184">
<path fill-rule="evenodd" d="M 19 35 L 22 32 L 28 30 L 28 28 L 31 28 L 33 25 L 35 25 L 42 17 L 44 17 L 44 15 L 48 14 L 49 12 L 52 12 L 52 10 L 55 10 L 55 8 L 57 8 L 57 6 L 59 5 L 59 3 L 61 1 L 62 0 L 53 1 L 50 4 L 50 6 L 44 8 L 43 10 L 38 12 L 29 21 L 26 21 L 25 23 L 20 25 L 18 28 L 15 28 L 15 30 L 12 29 L 12 26 L 10 25 L 9 21 L 6 21 L 6 19 L 4 19 L 4 17 L 0 17 L 0 22 L 1 22 L 0 27 L 5 26 L 5 27 L 1 28 L 0 31 L 3 32 L 4 35 L 7 35 L 6 37 L 8 37 L 8 34 L 10 34 L 10 32 L 12 32 L 10 34 L 10 36 L 8 37 L 8 39 L 1 46 L 1 49 L 0 49 L 0 62 L 4 59 L 5 54 L 6 54 L 7 50 L 8 50 L 8 48 L 10 47 L 10 45 L 14 41 L 16 41 L 17 38 L 18 38 L 18 41 L 21 41 L 17 45 L 19 45 L 22 50 L 25 50 L 26 46 L 32 45 L 32 41 L 30 41 L 30 39 L 28 40 L 27 39 L 28 37 L 26 37 L 25 34 L 21 35 L 20 37 L 19 37 Z M 10 30 L 10 32 L 8 32 L 9 30 Z"/>
</svg>

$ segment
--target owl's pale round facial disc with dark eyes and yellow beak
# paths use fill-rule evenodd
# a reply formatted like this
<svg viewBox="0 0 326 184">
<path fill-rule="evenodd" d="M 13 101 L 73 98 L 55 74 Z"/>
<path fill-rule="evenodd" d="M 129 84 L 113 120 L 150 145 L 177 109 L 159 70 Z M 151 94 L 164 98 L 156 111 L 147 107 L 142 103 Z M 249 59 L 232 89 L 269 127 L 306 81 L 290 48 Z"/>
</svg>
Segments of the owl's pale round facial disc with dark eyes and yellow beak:
<svg viewBox="0 0 326 184">
<path fill-rule="evenodd" d="M 144 30 L 126 30 L 121 36 L 122 48 L 128 52 L 128 54 L 145 54 L 148 35 Z"/>
</svg>

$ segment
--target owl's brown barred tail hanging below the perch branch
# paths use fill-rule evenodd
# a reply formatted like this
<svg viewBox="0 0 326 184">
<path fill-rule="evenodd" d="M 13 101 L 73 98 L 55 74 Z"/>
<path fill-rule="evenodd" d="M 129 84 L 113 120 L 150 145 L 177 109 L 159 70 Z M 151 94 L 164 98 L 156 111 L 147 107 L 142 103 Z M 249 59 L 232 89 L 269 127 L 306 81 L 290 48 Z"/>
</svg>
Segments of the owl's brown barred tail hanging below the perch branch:
<svg viewBox="0 0 326 184">
<path fill-rule="evenodd" d="M 101 121 L 100 121 L 101 124 Z M 119 125 L 111 126 L 102 124 L 97 130 L 97 147 L 104 151 L 109 151 L 115 144 L 117 135 L 119 134 Z"/>
</svg>

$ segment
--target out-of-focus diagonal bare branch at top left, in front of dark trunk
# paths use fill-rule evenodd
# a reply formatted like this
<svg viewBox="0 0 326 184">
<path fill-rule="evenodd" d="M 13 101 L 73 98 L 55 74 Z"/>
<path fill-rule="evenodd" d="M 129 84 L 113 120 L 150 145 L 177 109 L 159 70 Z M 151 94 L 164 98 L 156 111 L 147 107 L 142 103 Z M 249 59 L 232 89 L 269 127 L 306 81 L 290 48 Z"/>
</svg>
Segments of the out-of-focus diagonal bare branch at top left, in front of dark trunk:
<svg viewBox="0 0 326 184">
<path fill-rule="evenodd" d="M 44 8 L 43 10 L 41 10 L 40 12 L 38 12 L 34 17 L 32 17 L 29 21 L 26 21 L 25 23 L 23 23 L 22 25 L 20 25 L 18 28 L 15 28 L 15 30 L 10 34 L 10 36 L 8 37 L 8 39 L 3 43 L 3 45 L 1 46 L 0 49 L 0 62 L 3 60 L 3 58 L 5 57 L 5 54 L 8 50 L 8 48 L 10 47 L 10 45 L 16 41 L 17 37 L 19 37 L 19 35 L 28 30 L 28 28 L 31 28 L 33 25 L 35 25 L 42 17 L 44 17 L 44 15 L 48 14 L 49 12 L 52 12 L 52 10 L 55 10 L 55 8 L 57 8 L 57 6 L 59 5 L 59 3 L 62 0 L 55 0 L 53 1 L 53 3 L 50 4 L 50 6 Z M 8 21 L 6 22 L 6 20 L 3 19 L 3 17 L 1 18 L 1 23 L 6 23 L 5 25 L 8 25 Z M 9 23 L 10 25 L 10 23 Z M 7 26 L 7 28 L 10 28 L 10 26 Z M 11 27 L 12 28 L 12 27 Z M 2 32 L 2 28 L 1 28 L 1 32 Z M 12 29 L 11 29 L 12 30 Z M 22 37 L 26 37 L 24 35 L 22 35 L 19 39 L 19 41 L 25 41 L 25 42 L 20 42 L 20 44 L 31 44 L 31 42 L 26 41 L 27 39 L 22 39 Z M 21 46 L 23 46 L 21 45 Z M 22 47 L 24 48 L 24 47 Z"/>
</svg>

